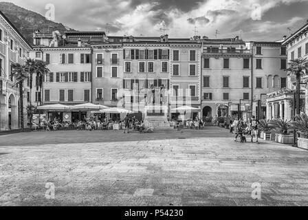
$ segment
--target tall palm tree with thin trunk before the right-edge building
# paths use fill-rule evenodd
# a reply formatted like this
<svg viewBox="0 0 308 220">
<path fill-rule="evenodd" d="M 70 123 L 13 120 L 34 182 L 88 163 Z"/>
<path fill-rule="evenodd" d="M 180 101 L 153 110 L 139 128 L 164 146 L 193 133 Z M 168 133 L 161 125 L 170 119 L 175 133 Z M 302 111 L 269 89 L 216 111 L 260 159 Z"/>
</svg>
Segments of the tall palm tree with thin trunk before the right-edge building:
<svg viewBox="0 0 308 220">
<path fill-rule="evenodd" d="M 296 76 L 296 114 L 300 114 L 300 79 L 308 74 L 308 61 L 306 58 L 298 58 L 289 61 L 287 68 L 287 76 Z"/>
</svg>

